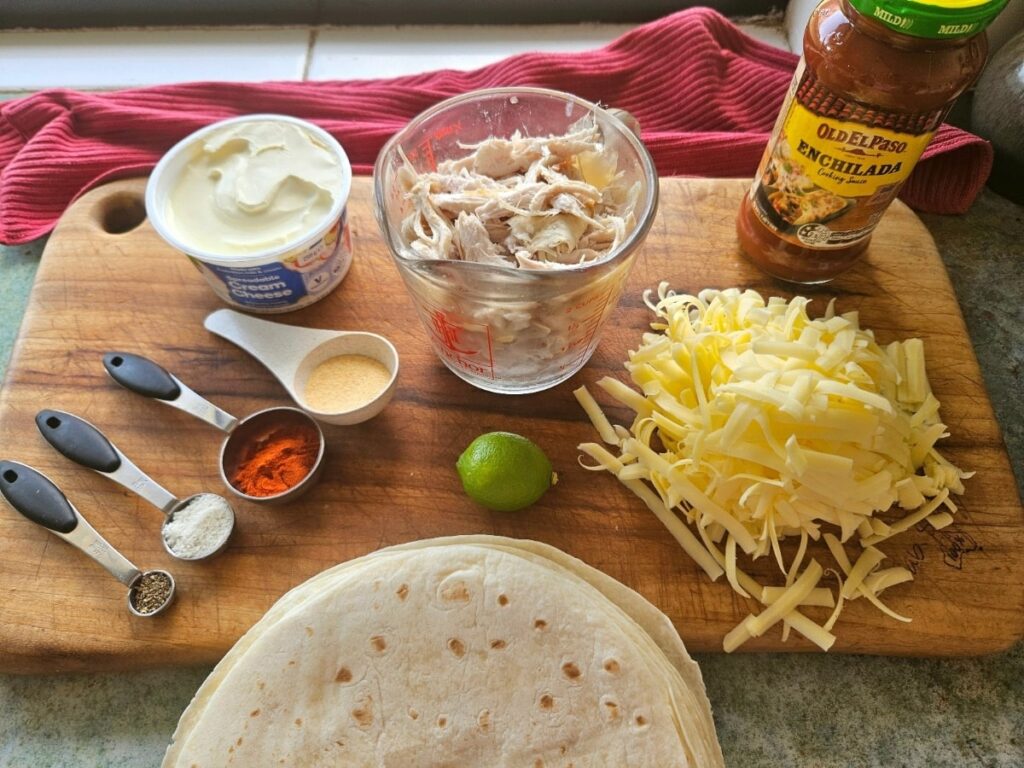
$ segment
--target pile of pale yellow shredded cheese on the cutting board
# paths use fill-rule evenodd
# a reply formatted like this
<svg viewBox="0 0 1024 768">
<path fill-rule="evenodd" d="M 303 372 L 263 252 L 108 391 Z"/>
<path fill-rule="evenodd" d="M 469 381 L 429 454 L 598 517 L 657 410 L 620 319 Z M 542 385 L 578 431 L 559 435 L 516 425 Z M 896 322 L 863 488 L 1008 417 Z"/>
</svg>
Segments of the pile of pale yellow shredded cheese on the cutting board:
<svg viewBox="0 0 1024 768">
<path fill-rule="evenodd" d="M 732 630 L 726 651 L 783 623 L 823 650 L 844 601 L 860 597 L 903 622 L 879 595 L 910 581 L 881 568 L 879 545 L 927 520 L 952 522 L 970 476 L 944 459 L 920 339 L 883 348 L 857 312 L 807 313 L 809 299 L 767 302 L 755 291 L 676 295 L 668 284 L 644 301 L 657 315 L 626 368 L 640 392 L 606 377 L 608 395 L 636 413 L 612 426 L 591 393 L 577 399 L 601 439 L 580 445 L 596 466 L 633 490 L 682 548 L 717 580 L 764 606 Z M 887 512 L 886 519 L 879 513 Z M 823 526 L 827 526 L 823 529 Z M 786 562 L 779 542 L 799 537 Z M 836 599 L 819 587 L 826 569 L 806 563 L 808 540 L 835 560 Z M 851 561 L 844 544 L 859 547 Z M 738 565 L 739 552 L 771 555 L 783 587 L 762 586 Z M 834 610 L 819 625 L 802 606 Z"/>
</svg>

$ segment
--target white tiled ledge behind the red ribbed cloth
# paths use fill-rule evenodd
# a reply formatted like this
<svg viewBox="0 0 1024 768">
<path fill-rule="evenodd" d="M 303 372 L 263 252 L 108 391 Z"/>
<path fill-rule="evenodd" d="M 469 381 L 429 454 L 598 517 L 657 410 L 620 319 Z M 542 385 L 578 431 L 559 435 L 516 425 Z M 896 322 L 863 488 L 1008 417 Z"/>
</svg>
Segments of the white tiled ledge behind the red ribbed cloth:
<svg viewBox="0 0 1024 768">
<path fill-rule="evenodd" d="M 740 27 L 756 38 L 786 47 L 779 26 Z M 599 48 L 629 29 L 594 24 L 0 32 L 0 91 L 470 70 L 523 51 Z"/>
</svg>

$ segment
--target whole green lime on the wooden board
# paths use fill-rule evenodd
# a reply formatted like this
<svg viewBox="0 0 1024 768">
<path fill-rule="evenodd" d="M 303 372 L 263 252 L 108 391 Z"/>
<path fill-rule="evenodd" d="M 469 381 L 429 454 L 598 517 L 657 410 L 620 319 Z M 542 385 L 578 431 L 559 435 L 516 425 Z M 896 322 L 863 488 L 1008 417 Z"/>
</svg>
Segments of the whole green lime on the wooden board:
<svg viewBox="0 0 1024 768">
<path fill-rule="evenodd" d="M 469 498 L 497 512 L 528 507 L 554 479 L 551 462 L 537 443 L 512 432 L 481 434 L 455 466 Z"/>
</svg>

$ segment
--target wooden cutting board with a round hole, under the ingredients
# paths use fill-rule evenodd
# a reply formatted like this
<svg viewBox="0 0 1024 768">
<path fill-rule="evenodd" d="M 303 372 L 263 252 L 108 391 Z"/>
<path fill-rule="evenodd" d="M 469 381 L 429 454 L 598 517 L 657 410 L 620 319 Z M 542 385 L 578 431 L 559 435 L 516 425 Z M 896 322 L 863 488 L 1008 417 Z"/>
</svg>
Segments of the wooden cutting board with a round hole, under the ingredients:
<svg viewBox="0 0 1024 768">
<path fill-rule="evenodd" d="M 577 444 L 595 435 L 571 395 L 580 384 L 608 374 L 626 378 L 622 362 L 649 321 L 641 292 L 659 281 L 693 293 L 741 286 L 792 295 L 737 251 L 733 221 L 745 182 L 664 180 L 657 220 L 591 362 L 553 390 L 515 397 L 474 389 L 431 352 L 378 234 L 371 183 L 356 179 L 349 208 L 351 272 L 321 303 L 280 319 L 389 337 L 401 355 L 397 394 L 369 423 L 326 428 L 326 468 L 309 495 L 284 508 L 238 502 L 229 549 L 213 562 L 195 564 L 165 554 L 155 509 L 73 466 L 43 441 L 33 422 L 42 408 L 71 411 L 99 426 L 172 492 L 225 493 L 217 474 L 219 433 L 118 387 L 108 379 L 101 354 L 117 349 L 151 356 L 237 415 L 286 402 L 259 364 L 203 329 L 205 315 L 221 305 L 191 264 L 147 223 L 129 228 L 142 217 L 143 186 L 137 179 L 89 193 L 50 239 L 0 393 L 0 458 L 49 474 L 129 558 L 142 567 L 169 569 L 179 599 L 166 615 L 133 618 L 124 588 L 0 502 L 0 670 L 209 664 L 286 590 L 313 573 L 379 547 L 454 534 L 537 539 L 577 555 L 652 600 L 692 650 L 720 649 L 723 635 L 751 610 L 724 580 L 713 584 L 698 572 L 614 478 L 578 466 Z M 956 655 L 1007 647 L 1024 634 L 1024 519 L 931 237 L 897 204 L 879 227 L 869 258 L 813 295 L 815 312 L 834 295 L 841 310 L 859 310 L 882 342 L 924 337 L 932 385 L 952 434 L 943 450 L 958 465 L 978 470 L 954 525 L 913 530 L 883 547 L 892 563 L 916 572 L 913 584 L 886 594 L 913 623 L 899 624 L 856 601 L 838 625 L 833 652 Z M 609 415 L 628 418 L 613 408 Z M 525 512 L 498 514 L 475 506 L 456 475 L 465 445 L 497 429 L 535 439 L 558 471 L 558 485 Z M 777 579 L 768 558 L 750 570 Z M 821 610 L 808 612 L 823 621 Z M 796 636 L 781 643 L 777 630 L 744 646 L 812 648 Z"/>
</svg>

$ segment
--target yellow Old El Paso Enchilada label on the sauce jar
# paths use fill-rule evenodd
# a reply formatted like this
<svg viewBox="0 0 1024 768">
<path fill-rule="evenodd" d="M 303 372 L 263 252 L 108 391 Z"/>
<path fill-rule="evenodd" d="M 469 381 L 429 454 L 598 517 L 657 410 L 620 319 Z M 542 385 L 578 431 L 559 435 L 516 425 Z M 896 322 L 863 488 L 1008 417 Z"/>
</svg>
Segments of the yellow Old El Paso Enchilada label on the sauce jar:
<svg viewBox="0 0 1024 768">
<path fill-rule="evenodd" d="M 845 99 L 801 60 L 751 189 L 757 217 L 795 245 L 843 248 L 868 237 L 945 113 Z"/>
</svg>

